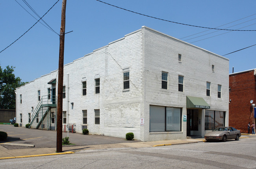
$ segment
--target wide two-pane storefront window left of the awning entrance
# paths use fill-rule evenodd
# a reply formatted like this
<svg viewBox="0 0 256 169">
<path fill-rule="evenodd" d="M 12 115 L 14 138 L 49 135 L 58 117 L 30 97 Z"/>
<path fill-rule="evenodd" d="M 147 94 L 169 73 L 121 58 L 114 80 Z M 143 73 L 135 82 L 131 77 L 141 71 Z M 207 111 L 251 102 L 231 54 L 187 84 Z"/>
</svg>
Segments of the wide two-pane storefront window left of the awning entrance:
<svg viewBox="0 0 256 169">
<path fill-rule="evenodd" d="M 181 131 L 180 107 L 150 105 L 149 132 Z"/>
</svg>

